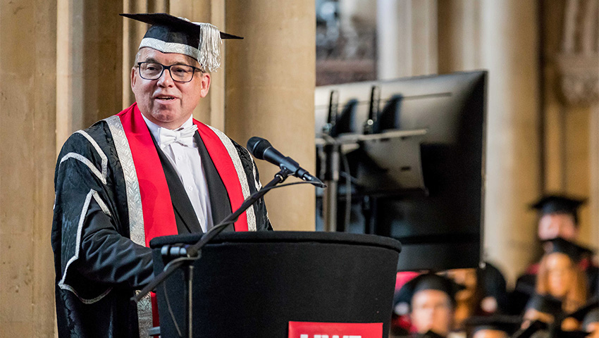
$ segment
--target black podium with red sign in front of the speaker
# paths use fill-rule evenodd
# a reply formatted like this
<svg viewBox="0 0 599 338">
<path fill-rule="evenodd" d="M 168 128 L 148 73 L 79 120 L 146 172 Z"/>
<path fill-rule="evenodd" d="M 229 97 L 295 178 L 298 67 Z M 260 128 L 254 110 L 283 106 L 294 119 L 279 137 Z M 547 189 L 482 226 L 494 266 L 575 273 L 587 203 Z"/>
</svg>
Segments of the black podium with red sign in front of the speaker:
<svg viewBox="0 0 599 338">
<path fill-rule="evenodd" d="M 156 237 L 161 249 L 201 234 Z M 288 323 L 383 323 L 388 336 L 400 242 L 342 232 L 223 232 L 193 273 L 193 337 L 288 337 Z M 156 288 L 161 337 L 185 327 L 183 271 Z M 169 304 L 170 303 L 170 309 Z"/>
</svg>

